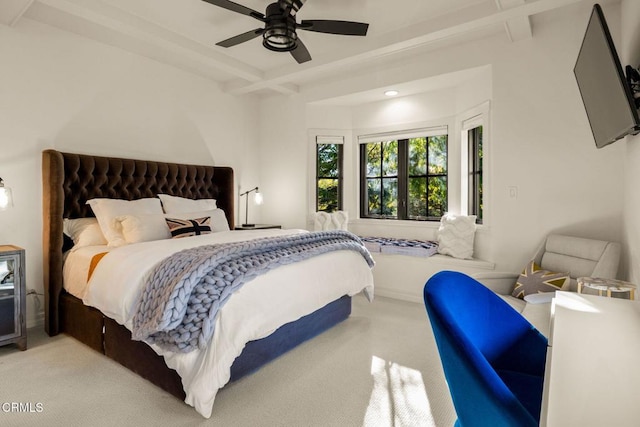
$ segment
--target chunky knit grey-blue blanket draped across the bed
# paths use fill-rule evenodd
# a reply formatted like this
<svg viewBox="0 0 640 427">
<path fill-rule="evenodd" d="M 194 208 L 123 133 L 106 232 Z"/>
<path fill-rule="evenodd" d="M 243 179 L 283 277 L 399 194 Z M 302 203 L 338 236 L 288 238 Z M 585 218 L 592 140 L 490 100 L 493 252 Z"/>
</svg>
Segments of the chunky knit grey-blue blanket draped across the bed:
<svg viewBox="0 0 640 427">
<path fill-rule="evenodd" d="M 342 230 L 199 246 L 156 265 L 133 318 L 133 338 L 187 353 L 204 348 L 218 311 L 232 293 L 259 274 L 330 251 L 360 253 L 374 261 L 360 239 Z"/>
</svg>

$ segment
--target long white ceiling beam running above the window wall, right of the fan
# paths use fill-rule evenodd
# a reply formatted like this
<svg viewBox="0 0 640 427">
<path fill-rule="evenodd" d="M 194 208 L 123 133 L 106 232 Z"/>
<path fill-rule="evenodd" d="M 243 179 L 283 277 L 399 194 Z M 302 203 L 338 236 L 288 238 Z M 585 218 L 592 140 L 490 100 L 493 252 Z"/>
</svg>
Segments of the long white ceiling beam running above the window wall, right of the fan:
<svg viewBox="0 0 640 427">
<path fill-rule="evenodd" d="M 410 49 L 417 49 L 419 47 L 441 42 L 452 37 L 461 36 L 470 32 L 480 31 L 486 29 L 487 27 L 503 25 L 505 22 L 509 22 L 512 20 L 523 18 L 528 20 L 530 16 L 565 7 L 574 3 L 580 3 L 583 1 L 586 0 L 537 0 L 533 2 L 526 2 L 519 6 L 501 10 L 497 13 L 493 13 L 482 18 L 471 19 L 461 24 L 452 25 L 440 30 L 432 31 L 430 33 L 411 37 L 406 40 L 401 40 L 394 37 L 394 41 L 387 42 L 386 44 L 380 45 L 377 48 L 372 48 L 366 52 L 356 53 L 335 60 L 325 60 L 323 62 L 313 61 L 314 63 L 312 65 L 308 65 L 311 63 L 307 63 L 303 66 L 283 67 L 280 69 L 271 70 L 265 73 L 264 80 L 249 84 L 240 83 L 235 86 L 231 93 L 251 93 L 253 91 L 263 89 L 265 85 L 274 83 L 281 84 L 284 82 L 296 80 L 297 78 L 308 74 L 329 73 L 331 71 L 337 71 L 348 67 L 357 67 L 364 61 L 370 61 L 376 58 L 392 55 L 397 52 L 404 52 Z M 406 33 L 406 31 L 404 32 Z"/>
</svg>

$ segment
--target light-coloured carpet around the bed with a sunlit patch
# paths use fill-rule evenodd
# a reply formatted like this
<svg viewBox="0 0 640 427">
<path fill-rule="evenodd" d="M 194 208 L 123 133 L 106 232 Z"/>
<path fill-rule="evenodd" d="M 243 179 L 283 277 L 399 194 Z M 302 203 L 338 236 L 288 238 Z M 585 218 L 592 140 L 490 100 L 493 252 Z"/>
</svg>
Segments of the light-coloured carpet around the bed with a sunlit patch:
<svg viewBox="0 0 640 427">
<path fill-rule="evenodd" d="M 421 304 L 354 297 L 348 320 L 221 390 L 210 419 L 73 338 L 30 330 L 28 339 L 25 352 L 0 347 L 0 425 L 400 427 L 456 418 Z M 33 412 L 6 412 L 11 402 Z"/>
</svg>

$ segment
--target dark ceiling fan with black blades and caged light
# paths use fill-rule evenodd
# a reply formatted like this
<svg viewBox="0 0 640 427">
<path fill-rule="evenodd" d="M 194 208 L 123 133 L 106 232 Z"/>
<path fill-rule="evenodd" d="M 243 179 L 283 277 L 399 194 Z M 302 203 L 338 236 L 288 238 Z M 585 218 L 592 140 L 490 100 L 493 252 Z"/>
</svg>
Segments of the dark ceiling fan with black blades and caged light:
<svg viewBox="0 0 640 427">
<path fill-rule="evenodd" d="M 290 52 L 299 64 L 310 61 L 311 54 L 298 38 L 296 29 L 347 36 L 366 36 L 369 28 L 369 24 L 362 22 L 324 19 L 302 20 L 297 23 L 296 13 L 304 6 L 306 0 L 278 0 L 267 6 L 264 14 L 229 0 L 203 1 L 250 16 L 265 24 L 264 28 L 256 28 L 216 43 L 218 46 L 231 47 L 262 35 L 264 47 L 275 52 Z"/>
</svg>

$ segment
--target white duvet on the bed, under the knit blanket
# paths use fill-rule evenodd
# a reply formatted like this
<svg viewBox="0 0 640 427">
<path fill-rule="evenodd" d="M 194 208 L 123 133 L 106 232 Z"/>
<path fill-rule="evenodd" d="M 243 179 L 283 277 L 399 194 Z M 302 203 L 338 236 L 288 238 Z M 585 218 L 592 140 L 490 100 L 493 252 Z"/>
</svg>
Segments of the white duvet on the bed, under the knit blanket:
<svg viewBox="0 0 640 427">
<path fill-rule="evenodd" d="M 84 292 L 85 304 L 131 330 L 145 277 L 165 257 L 198 245 L 302 233 L 304 230 L 227 231 L 112 249 L 98 264 Z M 373 276 L 362 256 L 337 251 L 282 266 L 247 282 L 219 312 L 215 334 L 204 350 L 173 353 L 152 346 L 182 378 L 185 402 L 211 416 L 218 389 L 249 341 L 264 338 L 343 295 L 373 297 Z"/>
</svg>

